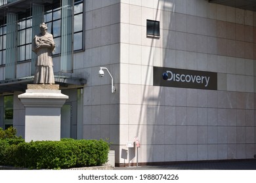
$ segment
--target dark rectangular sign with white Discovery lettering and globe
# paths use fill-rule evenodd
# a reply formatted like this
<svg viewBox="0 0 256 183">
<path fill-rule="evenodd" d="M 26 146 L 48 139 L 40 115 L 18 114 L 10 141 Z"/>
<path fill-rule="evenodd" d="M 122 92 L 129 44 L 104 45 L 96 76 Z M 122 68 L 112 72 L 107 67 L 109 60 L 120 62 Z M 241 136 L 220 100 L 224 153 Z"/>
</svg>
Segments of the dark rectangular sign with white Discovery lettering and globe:
<svg viewBox="0 0 256 183">
<path fill-rule="evenodd" d="M 154 67 L 154 86 L 217 90 L 217 73 Z"/>
</svg>

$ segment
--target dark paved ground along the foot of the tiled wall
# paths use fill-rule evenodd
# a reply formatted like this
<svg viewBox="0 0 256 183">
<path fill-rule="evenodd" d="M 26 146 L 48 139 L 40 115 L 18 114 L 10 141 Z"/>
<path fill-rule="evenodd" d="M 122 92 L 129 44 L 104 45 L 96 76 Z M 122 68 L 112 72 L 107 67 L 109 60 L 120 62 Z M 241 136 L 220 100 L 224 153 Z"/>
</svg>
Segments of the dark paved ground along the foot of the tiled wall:
<svg viewBox="0 0 256 183">
<path fill-rule="evenodd" d="M 173 163 L 173 165 L 156 165 L 141 167 L 115 167 L 114 170 L 256 170 L 256 159 L 209 161 L 193 163 Z"/>
</svg>

